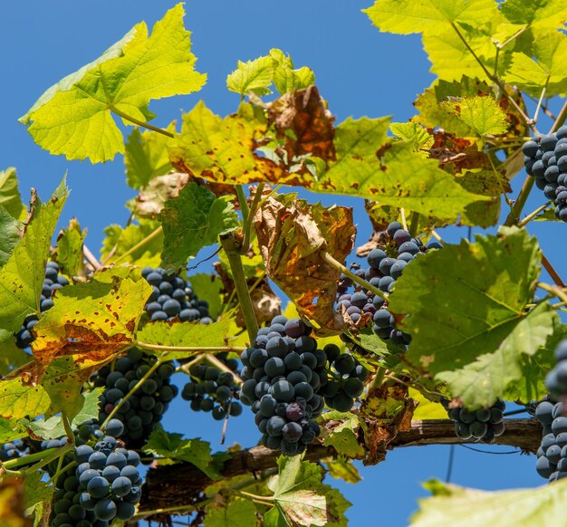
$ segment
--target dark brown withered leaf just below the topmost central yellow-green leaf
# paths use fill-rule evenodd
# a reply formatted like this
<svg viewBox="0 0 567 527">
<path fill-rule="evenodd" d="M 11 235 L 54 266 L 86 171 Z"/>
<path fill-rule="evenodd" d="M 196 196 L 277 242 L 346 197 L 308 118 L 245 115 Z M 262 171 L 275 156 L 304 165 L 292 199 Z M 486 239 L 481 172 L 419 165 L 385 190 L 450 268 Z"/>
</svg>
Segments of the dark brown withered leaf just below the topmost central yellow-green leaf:
<svg viewBox="0 0 567 527">
<path fill-rule="evenodd" d="M 285 139 L 290 160 L 306 154 L 334 160 L 334 120 L 316 86 L 285 93 L 268 105 L 268 123 Z"/>
</svg>

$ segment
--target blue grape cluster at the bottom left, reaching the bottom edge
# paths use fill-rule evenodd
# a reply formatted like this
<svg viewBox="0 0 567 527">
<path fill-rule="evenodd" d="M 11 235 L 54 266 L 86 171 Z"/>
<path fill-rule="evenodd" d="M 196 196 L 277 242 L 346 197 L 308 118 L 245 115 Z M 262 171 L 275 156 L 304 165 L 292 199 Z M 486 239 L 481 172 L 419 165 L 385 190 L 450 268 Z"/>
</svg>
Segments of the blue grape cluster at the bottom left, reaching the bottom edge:
<svg viewBox="0 0 567 527">
<path fill-rule="evenodd" d="M 120 421 L 111 419 L 106 436 L 95 428 L 87 423 L 79 429 L 77 446 L 55 478 L 54 527 L 107 527 L 114 518 L 126 521 L 135 513 L 141 496 L 139 455 L 117 441 L 123 431 Z M 91 435 L 98 438 L 94 447 L 85 442 Z M 53 441 L 62 446 L 66 437 Z M 51 474 L 54 470 L 50 467 Z"/>
</svg>

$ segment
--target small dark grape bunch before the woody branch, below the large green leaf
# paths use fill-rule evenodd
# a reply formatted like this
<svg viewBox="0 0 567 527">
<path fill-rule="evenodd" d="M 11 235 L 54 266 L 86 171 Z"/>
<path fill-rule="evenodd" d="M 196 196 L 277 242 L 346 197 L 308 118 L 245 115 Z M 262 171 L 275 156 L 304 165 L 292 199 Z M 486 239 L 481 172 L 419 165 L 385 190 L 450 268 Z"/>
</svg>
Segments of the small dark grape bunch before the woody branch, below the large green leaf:
<svg viewBox="0 0 567 527">
<path fill-rule="evenodd" d="M 472 439 L 482 443 L 494 443 L 495 437 L 502 436 L 505 429 L 504 410 L 506 404 L 498 399 L 490 408 L 474 412 L 466 408 L 449 408 L 448 401 L 441 401 L 451 421 L 455 422 L 455 433 L 461 439 Z"/>
</svg>

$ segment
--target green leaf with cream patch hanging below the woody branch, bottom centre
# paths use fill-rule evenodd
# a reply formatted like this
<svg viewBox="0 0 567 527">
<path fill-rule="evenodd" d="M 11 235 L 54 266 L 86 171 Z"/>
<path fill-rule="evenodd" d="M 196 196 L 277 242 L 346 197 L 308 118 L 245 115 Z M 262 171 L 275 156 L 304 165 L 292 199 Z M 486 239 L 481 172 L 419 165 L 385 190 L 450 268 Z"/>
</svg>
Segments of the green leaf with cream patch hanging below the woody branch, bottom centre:
<svg viewBox="0 0 567 527">
<path fill-rule="evenodd" d="M 322 467 L 302 461 L 301 455 L 278 459 L 279 474 L 268 481 L 274 509 L 264 515 L 266 527 L 276 525 L 346 526 L 350 507 L 339 493 L 322 484 Z"/>
</svg>

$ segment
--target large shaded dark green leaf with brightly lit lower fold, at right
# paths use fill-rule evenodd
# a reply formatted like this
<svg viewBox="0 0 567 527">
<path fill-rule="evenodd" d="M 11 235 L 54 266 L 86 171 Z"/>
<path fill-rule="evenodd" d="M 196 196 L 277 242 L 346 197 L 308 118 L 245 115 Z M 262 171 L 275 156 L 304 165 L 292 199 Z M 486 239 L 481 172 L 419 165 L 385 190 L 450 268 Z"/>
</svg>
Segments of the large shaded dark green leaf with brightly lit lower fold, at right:
<svg viewBox="0 0 567 527">
<path fill-rule="evenodd" d="M 535 238 L 523 229 L 502 228 L 498 236 L 476 236 L 475 244 L 463 240 L 446 245 L 408 266 L 389 298 L 391 311 L 411 313 L 403 321 L 412 336 L 407 359 L 446 378 L 452 371 L 475 369 L 477 360 L 485 364 L 488 358 L 483 356 L 495 353 L 499 361 L 492 368 L 502 369 L 495 375 L 506 378 L 505 370 L 514 368 L 523 353 L 542 346 L 553 331 L 534 327 L 539 320 L 553 328 L 552 313 L 543 308 L 527 312 L 525 307 L 533 302 L 540 262 Z M 494 402 L 488 399 L 502 395 L 505 387 L 500 385 L 498 393 L 490 394 L 488 388 L 481 389 L 490 382 L 489 373 L 490 368 L 480 369 L 467 376 L 474 384 L 466 393 L 459 386 L 453 395 L 471 398 L 468 402 L 473 406 Z M 480 398 L 485 401 L 482 405 Z"/>
</svg>

